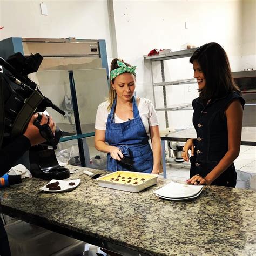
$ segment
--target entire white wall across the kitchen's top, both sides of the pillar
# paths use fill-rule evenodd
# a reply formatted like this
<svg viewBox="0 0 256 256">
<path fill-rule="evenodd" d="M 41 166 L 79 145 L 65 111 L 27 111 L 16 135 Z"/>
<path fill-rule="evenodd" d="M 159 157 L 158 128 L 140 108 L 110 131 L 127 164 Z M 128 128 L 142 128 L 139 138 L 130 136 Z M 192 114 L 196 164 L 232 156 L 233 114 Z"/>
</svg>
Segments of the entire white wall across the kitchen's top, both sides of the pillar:
<svg viewBox="0 0 256 256">
<path fill-rule="evenodd" d="M 250 65 L 255 67 L 255 1 L 113 0 L 117 55 L 137 65 L 137 95 L 152 100 L 150 66 L 144 62 L 143 55 L 154 48 L 178 50 L 187 42 L 200 46 L 215 41 L 224 46 L 233 71 Z M 113 31 L 109 26 L 107 0 L 45 0 L 48 16 L 41 15 L 41 2 L 0 0 L 0 26 L 4 26 L 0 30 L 0 39 L 106 39 L 109 64 L 113 57 L 117 57 L 112 55 Z M 188 21 L 188 29 L 185 29 L 185 21 Z M 160 82 L 160 66 L 156 65 L 154 79 Z M 165 67 L 166 80 L 193 76 L 188 58 L 168 60 Z M 197 97 L 196 87 L 196 84 L 192 85 L 188 92 L 187 85 L 169 86 L 167 101 L 170 104 L 189 103 Z M 161 104 L 161 91 L 157 93 L 157 102 Z M 170 112 L 170 126 L 191 124 L 191 114 L 192 111 Z M 163 116 L 160 122 L 164 127 Z"/>
</svg>

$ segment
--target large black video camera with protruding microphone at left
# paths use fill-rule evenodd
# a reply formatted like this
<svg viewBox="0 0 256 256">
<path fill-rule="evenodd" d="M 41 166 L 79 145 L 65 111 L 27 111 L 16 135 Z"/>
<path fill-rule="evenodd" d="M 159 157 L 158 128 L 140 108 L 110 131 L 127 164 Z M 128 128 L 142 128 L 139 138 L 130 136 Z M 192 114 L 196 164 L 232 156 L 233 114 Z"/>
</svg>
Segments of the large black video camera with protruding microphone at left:
<svg viewBox="0 0 256 256">
<path fill-rule="evenodd" d="M 27 76 L 38 70 L 42 60 L 39 53 L 25 57 L 18 52 L 9 56 L 6 61 L 0 57 L 0 146 L 3 138 L 14 139 L 23 134 L 31 116 L 36 112 L 44 112 L 47 107 L 52 107 L 65 115 Z M 1 65 L 4 69 L 1 69 Z M 41 118 L 39 115 L 34 125 L 48 144 L 56 149 L 62 130 L 56 127 L 53 135 L 48 125 L 40 124 Z"/>
</svg>

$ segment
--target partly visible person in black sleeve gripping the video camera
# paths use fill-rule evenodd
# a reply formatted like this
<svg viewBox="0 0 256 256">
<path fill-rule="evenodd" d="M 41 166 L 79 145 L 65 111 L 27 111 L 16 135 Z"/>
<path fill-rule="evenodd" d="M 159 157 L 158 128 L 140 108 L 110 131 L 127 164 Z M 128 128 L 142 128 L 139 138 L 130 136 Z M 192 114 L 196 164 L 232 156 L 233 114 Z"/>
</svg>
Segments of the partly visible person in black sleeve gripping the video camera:
<svg viewBox="0 0 256 256">
<path fill-rule="evenodd" d="M 37 113 L 33 114 L 23 135 L 12 140 L 12 142 L 3 142 L 2 149 L 0 149 L 0 176 L 3 176 L 8 172 L 9 169 L 24 156 L 31 146 L 45 142 L 45 139 L 39 133 L 39 129 L 33 124 L 37 116 Z M 45 114 L 42 114 L 40 124 L 48 124 L 52 132 L 55 132 L 56 125 L 51 116 L 48 118 Z M 11 255 L 8 237 L 4 229 L 2 218 L 0 218 L 0 255 Z"/>
</svg>

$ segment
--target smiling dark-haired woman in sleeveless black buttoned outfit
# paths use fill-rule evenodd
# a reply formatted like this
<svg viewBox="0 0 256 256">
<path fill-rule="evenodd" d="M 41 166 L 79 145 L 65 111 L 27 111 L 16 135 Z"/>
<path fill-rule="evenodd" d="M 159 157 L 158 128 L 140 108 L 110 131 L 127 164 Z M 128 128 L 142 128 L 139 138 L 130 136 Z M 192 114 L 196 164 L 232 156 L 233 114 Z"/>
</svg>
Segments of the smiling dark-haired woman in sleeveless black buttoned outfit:
<svg viewBox="0 0 256 256">
<path fill-rule="evenodd" d="M 232 78 L 226 52 L 219 44 L 201 46 L 190 62 L 199 97 L 192 102 L 197 138 L 187 140 L 182 153 L 188 161 L 188 150 L 191 150 L 187 183 L 235 187 L 234 160 L 240 151 L 245 100 Z"/>
</svg>

